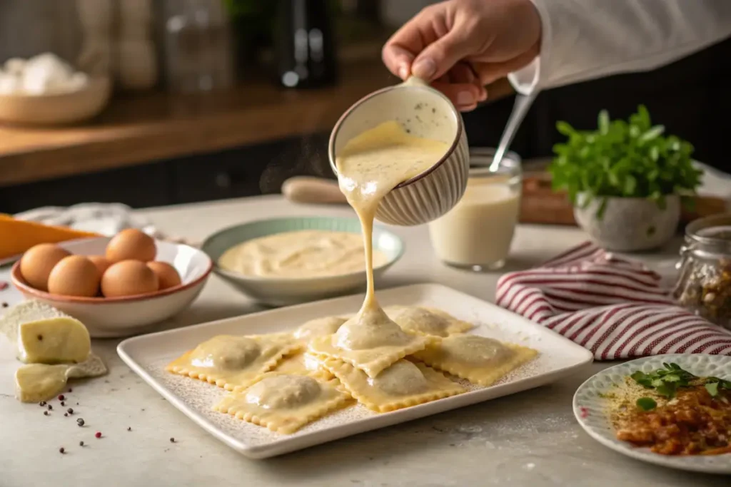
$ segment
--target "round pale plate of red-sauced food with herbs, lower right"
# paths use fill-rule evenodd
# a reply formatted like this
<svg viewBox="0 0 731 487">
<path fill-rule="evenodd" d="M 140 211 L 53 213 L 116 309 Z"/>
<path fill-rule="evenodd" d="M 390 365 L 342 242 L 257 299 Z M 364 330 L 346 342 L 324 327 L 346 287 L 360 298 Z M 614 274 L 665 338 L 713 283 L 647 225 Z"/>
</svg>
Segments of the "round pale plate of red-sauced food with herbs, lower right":
<svg viewBox="0 0 731 487">
<path fill-rule="evenodd" d="M 589 436 L 626 456 L 664 467 L 731 474 L 730 436 L 708 436 L 704 432 L 710 429 L 700 426 L 714 421 L 712 429 L 720 431 L 725 424 L 731 430 L 730 403 L 731 357 L 666 354 L 594 375 L 577 389 L 574 414 Z M 709 405 L 715 410 L 712 415 Z M 691 410 L 692 417 L 676 429 L 676 420 L 669 418 L 685 415 L 680 409 Z"/>
</svg>

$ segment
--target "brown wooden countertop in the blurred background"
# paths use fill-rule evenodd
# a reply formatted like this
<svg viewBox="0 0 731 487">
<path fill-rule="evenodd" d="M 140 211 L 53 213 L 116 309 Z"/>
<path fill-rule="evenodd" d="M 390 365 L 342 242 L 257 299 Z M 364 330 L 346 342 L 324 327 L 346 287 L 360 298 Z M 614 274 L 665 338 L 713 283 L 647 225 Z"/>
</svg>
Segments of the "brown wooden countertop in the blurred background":
<svg viewBox="0 0 731 487">
<path fill-rule="evenodd" d="M 0 126 L 0 187 L 330 131 L 357 99 L 396 83 L 380 63 L 343 66 L 338 85 L 279 89 L 266 80 L 203 95 L 113 99 L 82 126 Z M 511 93 L 501 81 L 493 99 Z"/>
</svg>

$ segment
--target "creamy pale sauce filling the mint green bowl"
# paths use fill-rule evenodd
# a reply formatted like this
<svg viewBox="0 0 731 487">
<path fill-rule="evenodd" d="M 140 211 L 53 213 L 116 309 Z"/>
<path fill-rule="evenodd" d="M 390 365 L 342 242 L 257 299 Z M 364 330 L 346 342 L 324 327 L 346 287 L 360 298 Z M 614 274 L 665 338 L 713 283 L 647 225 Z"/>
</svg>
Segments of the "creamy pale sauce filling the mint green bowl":
<svg viewBox="0 0 731 487">
<path fill-rule="evenodd" d="M 219 258 L 219 266 L 259 277 L 327 277 L 363 272 L 363 239 L 346 231 L 302 230 L 251 239 L 232 247 Z M 374 253 L 374 266 L 388 261 Z"/>
</svg>

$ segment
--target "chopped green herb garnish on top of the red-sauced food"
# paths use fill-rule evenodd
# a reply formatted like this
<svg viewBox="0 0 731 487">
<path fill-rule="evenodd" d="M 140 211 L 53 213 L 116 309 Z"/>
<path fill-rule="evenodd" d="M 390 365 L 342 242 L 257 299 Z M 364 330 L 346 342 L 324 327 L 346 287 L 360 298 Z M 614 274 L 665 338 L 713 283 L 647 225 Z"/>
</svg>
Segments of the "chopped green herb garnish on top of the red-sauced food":
<svg viewBox="0 0 731 487">
<path fill-rule="evenodd" d="M 719 379 L 719 377 L 697 377 L 687 370 L 681 369 L 678 364 L 662 364 L 662 367 L 662 369 L 649 373 L 637 370 L 629 377 L 632 377 L 640 386 L 654 389 L 657 394 L 667 397 L 667 399 L 673 399 L 678 392 L 678 388 L 681 387 L 705 386 L 705 390 L 708 391 L 708 394 L 711 394 L 711 397 L 718 396 L 719 388 L 731 391 L 731 380 Z M 646 411 L 648 409 L 640 405 L 640 400 L 644 399 L 650 398 L 641 397 L 637 399 L 637 406 Z M 648 404 L 645 401 L 643 402 Z"/>
</svg>

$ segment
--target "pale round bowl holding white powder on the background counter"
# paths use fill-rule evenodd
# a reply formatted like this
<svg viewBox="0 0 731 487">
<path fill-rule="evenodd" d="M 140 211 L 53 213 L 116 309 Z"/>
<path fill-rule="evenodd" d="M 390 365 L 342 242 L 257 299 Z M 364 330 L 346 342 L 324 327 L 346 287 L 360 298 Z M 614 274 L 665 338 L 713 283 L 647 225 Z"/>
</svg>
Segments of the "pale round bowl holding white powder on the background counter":
<svg viewBox="0 0 731 487">
<path fill-rule="evenodd" d="M 19 125 L 61 125 L 98 115 L 111 93 L 108 77 L 92 77 L 86 88 L 49 95 L 0 95 L 0 121 Z"/>
</svg>

